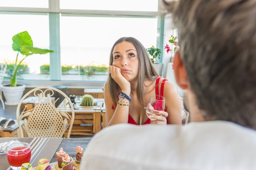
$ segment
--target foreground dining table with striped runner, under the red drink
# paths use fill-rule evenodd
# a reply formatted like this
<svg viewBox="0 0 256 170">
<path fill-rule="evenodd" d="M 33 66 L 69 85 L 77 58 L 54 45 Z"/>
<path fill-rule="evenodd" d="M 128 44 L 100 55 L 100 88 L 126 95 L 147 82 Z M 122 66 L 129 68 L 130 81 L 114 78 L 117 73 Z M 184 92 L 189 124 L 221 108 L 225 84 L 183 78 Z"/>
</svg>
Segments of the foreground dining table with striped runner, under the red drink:
<svg viewBox="0 0 256 170">
<path fill-rule="evenodd" d="M 63 148 L 67 154 L 75 158 L 76 146 L 81 146 L 85 150 L 91 140 L 91 138 L 0 138 L 0 143 L 13 139 L 30 143 L 30 163 L 33 167 L 38 166 L 38 161 L 42 158 L 49 159 L 50 163 L 57 162 L 56 152 L 59 148 Z M 0 165 L 0 170 L 10 170 L 6 154 L 0 155 Z"/>
</svg>

